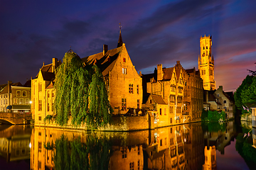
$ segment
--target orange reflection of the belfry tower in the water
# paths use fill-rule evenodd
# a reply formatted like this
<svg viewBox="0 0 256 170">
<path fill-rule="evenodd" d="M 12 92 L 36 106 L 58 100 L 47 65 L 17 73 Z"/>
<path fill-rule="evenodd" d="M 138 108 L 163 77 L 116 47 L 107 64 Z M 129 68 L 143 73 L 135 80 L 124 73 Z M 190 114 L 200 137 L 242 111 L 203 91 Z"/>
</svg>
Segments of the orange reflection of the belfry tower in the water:
<svg viewBox="0 0 256 170">
<path fill-rule="evenodd" d="M 216 169 L 216 149 L 215 146 L 207 149 L 205 147 L 205 164 L 203 164 L 203 170 Z"/>
</svg>

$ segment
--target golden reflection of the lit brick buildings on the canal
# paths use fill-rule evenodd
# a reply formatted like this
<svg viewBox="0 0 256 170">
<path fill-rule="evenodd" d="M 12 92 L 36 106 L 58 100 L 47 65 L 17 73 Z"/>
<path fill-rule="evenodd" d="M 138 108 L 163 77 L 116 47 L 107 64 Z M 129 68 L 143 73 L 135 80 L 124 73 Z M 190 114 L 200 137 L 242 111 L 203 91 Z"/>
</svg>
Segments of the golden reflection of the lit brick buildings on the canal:
<svg viewBox="0 0 256 170">
<path fill-rule="evenodd" d="M 31 135 L 31 169 L 55 166 L 55 150 L 45 149 L 43 145 L 54 143 L 63 134 L 68 141 L 80 137 L 82 145 L 86 145 L 92 135 L 84 130 L 35 127 Z M 94 135 L 111 141 L 108 169 L 199 169 L 203 165 L 203 137 L 199 123 L 136 132 L 95 132 Z"/>
</svg>

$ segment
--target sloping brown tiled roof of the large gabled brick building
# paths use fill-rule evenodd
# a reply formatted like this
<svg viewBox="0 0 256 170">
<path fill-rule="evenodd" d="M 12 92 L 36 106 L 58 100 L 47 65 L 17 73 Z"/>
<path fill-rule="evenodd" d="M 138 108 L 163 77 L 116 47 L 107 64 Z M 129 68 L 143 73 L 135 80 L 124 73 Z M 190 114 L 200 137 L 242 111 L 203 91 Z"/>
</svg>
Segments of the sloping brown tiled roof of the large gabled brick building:
<svg viewBox="0 0 256 170">
<path fill-rule="evenodd" d="M 117 57 L 122 50 L 123 47 L 117 47 L 112 50 L 107 50 L 105 55 L 103 55 L 103 52 L 100 52 L 95 55 L 82 58 L 82 62 L 85 62 L 85 64 L 97 64 L 97 67 L 100 68 L 103 76 L 106 76 L 114 67 Z"/>
</svg>

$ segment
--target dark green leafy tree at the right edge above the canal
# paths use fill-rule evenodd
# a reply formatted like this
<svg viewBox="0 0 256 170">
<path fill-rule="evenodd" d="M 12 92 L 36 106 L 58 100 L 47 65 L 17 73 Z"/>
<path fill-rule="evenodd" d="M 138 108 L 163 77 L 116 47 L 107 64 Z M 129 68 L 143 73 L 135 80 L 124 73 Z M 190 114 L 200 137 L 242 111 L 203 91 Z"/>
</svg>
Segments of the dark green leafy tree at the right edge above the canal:
<svg viewBox="0 0 256 170">
<path fill-rule="evenodd" d="M 245 79 L 242 81 L 242 84 L 235 91 L 235 94 L 234 94 L 235 106 L 237 106 L 239 110 L 242 110 L 242 106 L 248 106 L 248 104 L 253 103 L 252 101 L 256 103 L 256 98 L 255 98 L 256 84 L 255 82 L 252 84 L 253 79 L 256 79 L 256 78 L 247 75 L 247 77 L 245 77 Z M 254 91 L 250 91 L 248 89 L 250 90 L 254 89 Z M 254 94 L 254 97 L 253 97 L 253 94 Z"/>
</svg>

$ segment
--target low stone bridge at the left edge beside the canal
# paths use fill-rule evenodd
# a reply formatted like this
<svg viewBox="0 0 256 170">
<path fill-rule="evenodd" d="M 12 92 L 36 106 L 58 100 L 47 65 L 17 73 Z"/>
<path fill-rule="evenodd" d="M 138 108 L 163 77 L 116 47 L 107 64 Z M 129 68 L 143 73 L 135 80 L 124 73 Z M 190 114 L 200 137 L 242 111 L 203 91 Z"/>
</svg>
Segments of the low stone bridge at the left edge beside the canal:
<svg viewBox="0 0 256 170">
<path fill-rule="evenodd" d="M 0 123 L 21 125 L 28 124 L 31 119 L 31 113 L 0 113 Z"/>
</svg>

